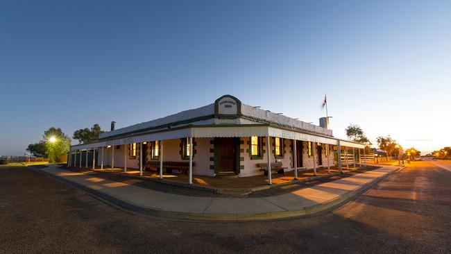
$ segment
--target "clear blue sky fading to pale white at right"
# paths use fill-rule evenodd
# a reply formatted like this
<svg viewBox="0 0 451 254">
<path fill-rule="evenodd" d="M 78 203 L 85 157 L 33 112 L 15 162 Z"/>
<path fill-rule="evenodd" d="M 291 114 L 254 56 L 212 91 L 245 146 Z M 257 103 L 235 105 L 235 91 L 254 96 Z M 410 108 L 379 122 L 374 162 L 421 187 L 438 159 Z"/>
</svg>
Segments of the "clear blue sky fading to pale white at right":
<svg viewBox="0 0 451 254">
<path fill-rule="evenodd" d="M 0 155 L 223 94 L 314 124 L 327 94 L 335 137 L 451 146 L 451 1 L 0 3 Z"/>
</svg>

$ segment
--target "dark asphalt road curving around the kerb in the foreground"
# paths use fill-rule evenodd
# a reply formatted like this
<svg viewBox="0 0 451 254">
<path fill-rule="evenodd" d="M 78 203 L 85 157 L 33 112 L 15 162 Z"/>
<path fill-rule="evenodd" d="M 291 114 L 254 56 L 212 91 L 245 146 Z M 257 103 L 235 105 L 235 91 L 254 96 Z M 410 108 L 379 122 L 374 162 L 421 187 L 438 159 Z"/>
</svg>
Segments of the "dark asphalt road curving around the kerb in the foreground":
<svg viewBox="0 0 451 254">
<path fill-rule="evenodd" d="M 413 162 L 314 217 L 200 223 L 128 212 L 0 167 L 0 214 L 0 253 L 451 253 L 451 171 Z"/>
</svg>

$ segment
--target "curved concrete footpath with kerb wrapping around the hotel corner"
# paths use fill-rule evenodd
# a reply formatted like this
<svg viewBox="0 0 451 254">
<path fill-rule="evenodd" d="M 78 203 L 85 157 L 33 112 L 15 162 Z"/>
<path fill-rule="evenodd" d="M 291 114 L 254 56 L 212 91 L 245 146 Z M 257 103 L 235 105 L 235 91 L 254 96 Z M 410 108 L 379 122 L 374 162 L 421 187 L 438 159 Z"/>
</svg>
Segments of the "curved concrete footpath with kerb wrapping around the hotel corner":
<svg viewBox="0 0 451 254">
<path fill-rule="evenodd" d="M 32 169 L 123 208 L 176 219 L 253 221 L 314 214 L 363 192 L 402 168 L 386 166 L 295 192 L 262 198 L 182 196 L 59 169 Z"/>
</svg>

